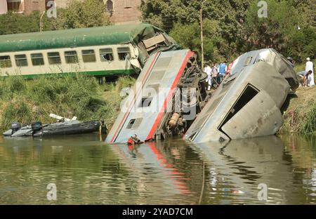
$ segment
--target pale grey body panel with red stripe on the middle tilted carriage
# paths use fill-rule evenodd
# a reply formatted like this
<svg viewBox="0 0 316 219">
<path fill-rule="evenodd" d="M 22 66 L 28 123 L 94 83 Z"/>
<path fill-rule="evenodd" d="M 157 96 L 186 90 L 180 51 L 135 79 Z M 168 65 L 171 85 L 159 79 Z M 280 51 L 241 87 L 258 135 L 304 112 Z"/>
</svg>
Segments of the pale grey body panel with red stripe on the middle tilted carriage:
<svg viewBox="0 0 316 219">
<path fill-rule="evenodd" d="M 156 131 L 166 107 L 169 107 L 170 92 L 183 74 L 187 60 L 193 55 L 190 50 L 155 53 L 147 60 L 132 92 L 122 102 L 121 112 L 105 142 L 127 142 L 138 135 L 148 140 Z M 143 99 L 150 100 L 147 107 Z"/>
</svg>

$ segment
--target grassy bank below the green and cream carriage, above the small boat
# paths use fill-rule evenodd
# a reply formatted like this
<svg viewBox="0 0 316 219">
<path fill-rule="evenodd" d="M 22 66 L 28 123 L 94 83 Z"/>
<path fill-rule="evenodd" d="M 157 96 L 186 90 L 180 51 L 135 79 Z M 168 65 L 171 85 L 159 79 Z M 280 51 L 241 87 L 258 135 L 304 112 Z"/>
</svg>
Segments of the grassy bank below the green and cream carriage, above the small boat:
<svg viewBox="0 0 316 219">
<path fill-rule="evenodd" d="M 122 77 L 114 84 L 100 86 L 92 77 L 39 78 L 26 81 L 21 77 L 0 79 L 0 131 L 12 121 L 30 124 L 51 123 L 49 114 L 78 117 L 81 121 L 105 119 L 112 124 L 119 112 L 119 91 L 133 83 Z"/>
</svg>

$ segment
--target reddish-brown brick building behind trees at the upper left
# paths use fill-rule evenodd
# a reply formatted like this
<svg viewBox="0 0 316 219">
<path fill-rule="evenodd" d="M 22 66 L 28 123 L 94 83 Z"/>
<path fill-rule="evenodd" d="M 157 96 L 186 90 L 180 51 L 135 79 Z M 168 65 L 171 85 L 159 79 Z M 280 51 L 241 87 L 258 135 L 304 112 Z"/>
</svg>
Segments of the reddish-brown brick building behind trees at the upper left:
<svg viewBox="0 0 316 219">
<path fill-rule="evenodd" d="M 0 0 L 0 14 L 7 11 L 16 13 L 32 13 L 45 11 L 47 2 L 51 0 Z M 70 0 L 53 0 L 58 8 L 65 8 Z M 110 20 L 114 24 L 140 22 L 139 10 L 141 0 L 103 0 Z"/>
</svg>

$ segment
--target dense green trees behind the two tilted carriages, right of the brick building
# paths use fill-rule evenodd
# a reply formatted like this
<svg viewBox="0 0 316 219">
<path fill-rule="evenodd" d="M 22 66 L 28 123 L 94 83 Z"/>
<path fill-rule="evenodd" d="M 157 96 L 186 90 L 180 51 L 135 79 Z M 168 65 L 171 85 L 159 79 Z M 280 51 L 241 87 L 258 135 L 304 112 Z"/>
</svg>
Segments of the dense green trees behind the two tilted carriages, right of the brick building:
<svg viewBox="0 0 316 219">
<path fill-rule="evenodd" d="M 286 56 L 292 56 L 296 62 L 305 60 L 306 56 L 315 56 L 315 0 L 266 2 L 268 18 L 258 18 L 258 1 L 205 1 L 206 61 L 230 62 L 238 55 L 258 48 L 275 48 Z M 200 0 L 143 1 L 143 21 L 166 29 L 183 48 L 201 54 L 201 3 Z M 298 31 L 298 26 L 301 31 Z"/>
</svg>

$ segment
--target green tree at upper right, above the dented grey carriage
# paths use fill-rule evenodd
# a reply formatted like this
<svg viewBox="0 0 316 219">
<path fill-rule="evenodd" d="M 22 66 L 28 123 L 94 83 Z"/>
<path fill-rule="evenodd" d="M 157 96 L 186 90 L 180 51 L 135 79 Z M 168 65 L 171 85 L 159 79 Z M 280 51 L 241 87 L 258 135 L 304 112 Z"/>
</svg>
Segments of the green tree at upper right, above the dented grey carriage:
<svg viewBox="0 0 316 219">
<path fill-rule="evenodd" d="M 258 18 L 258 6 L 256 2 L 251 4 L 244 25 L 244 50 L 275 48 L 298 62 L 303 57 L 315 56 L 315 20 L 310 20 L 315 15 L 306 15 L 308 8 L 312 8 L 308 1 L 303 4 L 296 0 L 267 0 L 268 18 Z"/>
</svg>

